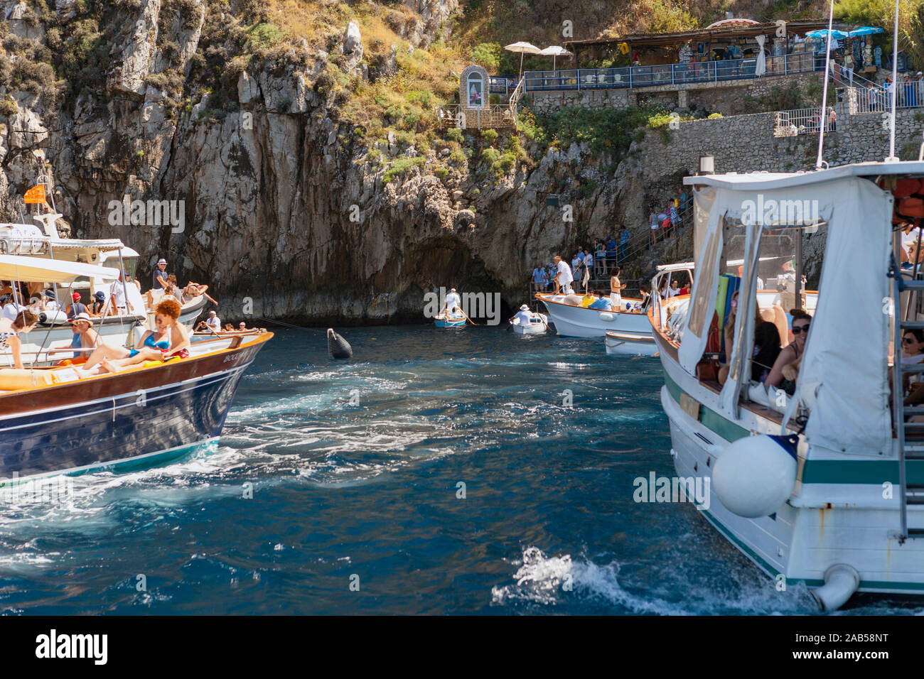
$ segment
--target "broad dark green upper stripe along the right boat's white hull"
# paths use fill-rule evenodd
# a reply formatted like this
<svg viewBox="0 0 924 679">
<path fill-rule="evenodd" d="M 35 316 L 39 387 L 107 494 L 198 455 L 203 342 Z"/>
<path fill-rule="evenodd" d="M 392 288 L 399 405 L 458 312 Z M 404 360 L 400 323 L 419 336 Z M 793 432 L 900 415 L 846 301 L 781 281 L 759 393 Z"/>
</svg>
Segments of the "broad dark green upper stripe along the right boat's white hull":
<svg viewBox="0 0 924 679">
<path fill-rule="evenodd" d="M 684 391 L 664 371 L 664 384 L 677 404 Z M 689 395 L 689 394 L 687 394 Z M 692 398 L 692 396 L 691 396 Z M 749 431 L 706 406 L 699 406 L 699 423 L 712 433 L 731 443 L 748 436 Z M 803 483 L 856 483 L 881 486 L 890 481 L 897 484 L 898 460 L 806 460 L 802 470 Z M 924 460 L 906 460 L 908 483 L 924 484 Z"/>
</svg>

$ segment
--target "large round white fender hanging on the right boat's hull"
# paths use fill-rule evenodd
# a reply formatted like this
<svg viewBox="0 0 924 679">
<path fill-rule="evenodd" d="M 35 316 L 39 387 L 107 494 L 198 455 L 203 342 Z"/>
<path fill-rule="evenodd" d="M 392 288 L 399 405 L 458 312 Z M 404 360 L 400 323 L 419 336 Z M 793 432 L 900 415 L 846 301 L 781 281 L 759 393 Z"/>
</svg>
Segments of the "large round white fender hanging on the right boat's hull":
<svg viewBox="0 0 924 679">
<path fill-rule="evenodd" d="M 795 485 L 795 437 L 745 436 L 725 448 L 712 467 L 712 489 L 719 501 L 747 518 L 771 515 Z"/>
</svg>

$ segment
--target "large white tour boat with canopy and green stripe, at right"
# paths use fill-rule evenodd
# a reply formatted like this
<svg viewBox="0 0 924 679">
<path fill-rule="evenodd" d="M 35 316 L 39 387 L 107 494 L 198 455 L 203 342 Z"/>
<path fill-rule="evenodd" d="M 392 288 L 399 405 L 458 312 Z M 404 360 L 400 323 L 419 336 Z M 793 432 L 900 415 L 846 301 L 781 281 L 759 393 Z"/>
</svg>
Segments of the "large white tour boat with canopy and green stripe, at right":
<svg viewBox="0 0 924 679">
<path fill-rule="evenodd" d="M 922 177 L 924 162 L 894 158 L 687 177 L 696 202 L 693 293 L 656 298 L 649 312 L 680 482 L 708 489 L 698 508 L 723 537 L 778 582 L 813 588 L 826 610 L 855 591 L 924 593 L 924 424 L 908 421 L 924 407 L 903 406 L 902 380 L 924 363 L 894 370 L 902 333 L 924 329 L 913 298 L 924 281 L 898 273 L 893 226 L 909 190 L 924 192 Z M 758 202 L 780 209 L 769 217 L 753 210 Z M 794 205 L 813 206 L 812 218 L 793 219 L 783 206 Z M 806 245 L 815 262 L 802 261 Z M 772 304 L 758 280 L 787 248 L 794 282 L 804 264 L 822 260 L 814 309 L 799 284 L 777 300 L 814 310 L 792 395 L 753 381 L 752 371 L 755 304 L 765 314 Z M 722 281 L 729 257 L 744 263 L 720 385 L 717 298 L 732 280 Z"/>
</svg>

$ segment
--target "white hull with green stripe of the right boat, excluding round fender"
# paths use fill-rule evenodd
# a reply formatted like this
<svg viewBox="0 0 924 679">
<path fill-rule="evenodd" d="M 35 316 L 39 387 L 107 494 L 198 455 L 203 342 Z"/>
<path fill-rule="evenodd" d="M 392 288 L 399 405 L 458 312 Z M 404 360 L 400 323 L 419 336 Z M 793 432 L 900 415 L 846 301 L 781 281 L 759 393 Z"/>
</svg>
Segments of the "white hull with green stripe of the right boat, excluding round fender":
<svg viewBox="0 0 924 679">
<path fill-rule="evenodd" d="M 746 408 L 737 420 L 720 415 L 718 394 L 687 375 L 673 358 L 664 352 L 661 356 L 667 378 L 661 398 L 677 476 L 711 479 L 715 460 L 731 440 L 748 433 L 779 433 L 774 420 Z M 691 397 L 701 405 L 699 418 L 688 414 L 689 404 L 695 404 Z M 678 399 L 686 400 L 687 407 Z M 897 458 L 857 456 L 855 470 L 846 472 L 836 460 L 837 454 L 813 448 L 800 471 L 801 488 L 796 484 L 797 490 L 772 515 L 733 514 L 711 482 L 709 507 L 702 514 L 769 576 L 785 576 L 787 587 L 797 582 L 821 587 L 829 568 L 846 564 L 860 576 L 859 591 L 924 594 L 924 540 L 899 543 L 898 492 L 894 498 L 882 497 L 883 481 L 897 480 Z M 908 524 L 924 525 L 924 507 L 909 508 Z"/>
</svg>

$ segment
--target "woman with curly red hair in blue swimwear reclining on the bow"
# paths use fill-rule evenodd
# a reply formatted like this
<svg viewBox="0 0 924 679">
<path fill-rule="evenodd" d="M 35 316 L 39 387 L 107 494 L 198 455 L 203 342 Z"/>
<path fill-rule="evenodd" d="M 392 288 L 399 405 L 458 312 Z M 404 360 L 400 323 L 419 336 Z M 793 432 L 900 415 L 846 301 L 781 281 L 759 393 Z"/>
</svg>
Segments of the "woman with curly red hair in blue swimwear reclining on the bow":
<svg viewBox="0 0 924 679">
<path fill-rule="evenodd" d="M 154 309 L 156 331 L 149 330 L 141 336 L 138 347 L 127 349 L 124 346 L 98 346 L 86 365 L 77 369 L 81 377 L 97 375 L 102 372 L 115 372 L 119 368 L 137 365 L 148 360 L 167 360 L 168 358 L 187 358 L 189 356 L 189 333 L 179 322 L 179 303 L 174 299 L 164 299 Z"/>
</svg>

